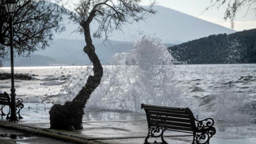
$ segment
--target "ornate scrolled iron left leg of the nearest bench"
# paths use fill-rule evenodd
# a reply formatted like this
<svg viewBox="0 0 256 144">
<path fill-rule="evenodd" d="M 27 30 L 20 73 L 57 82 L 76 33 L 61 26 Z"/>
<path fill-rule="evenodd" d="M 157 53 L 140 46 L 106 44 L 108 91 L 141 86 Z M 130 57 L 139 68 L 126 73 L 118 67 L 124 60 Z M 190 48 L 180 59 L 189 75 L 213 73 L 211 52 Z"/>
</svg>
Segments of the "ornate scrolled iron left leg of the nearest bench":
<svg viewBox="0 0 256 144">
<path fill-rule="evenodd" d="M 164 131 L 163 129 L 161 129 L 161 134 L 160 135 L 155 135 L 156 133 L 159 133 L 160 132 L 160 129 L 159 128 L 151 128 L 149 127 L 148 128 L 148 135 L 147 137 L 145 138 L 145 143 L 144 144 L 168 144 L 165 140 L 164 140 L 164 137 L 163 137 L 163 134 L 164 134 Z M 149 138 L 159 138 L 161 137 L 161 140 L 162 142 L 157 142 L 157 141 L 154 141 L 153 143 L 152 142 L 148 142 L 148 139 Z"/>
</svg>

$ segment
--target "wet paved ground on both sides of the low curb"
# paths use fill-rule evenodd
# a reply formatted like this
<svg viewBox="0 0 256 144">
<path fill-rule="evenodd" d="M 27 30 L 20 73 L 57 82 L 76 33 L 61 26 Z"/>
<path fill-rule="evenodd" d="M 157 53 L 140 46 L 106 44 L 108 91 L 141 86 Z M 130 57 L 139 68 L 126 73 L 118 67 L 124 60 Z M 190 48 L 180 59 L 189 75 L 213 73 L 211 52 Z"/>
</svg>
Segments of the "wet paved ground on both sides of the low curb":
<svg viewBox="0 0 256 144">
<path fill-rule="evenodd" d="M 51 104 L 24 103 L 25 107 L 21 110 L 24 119 L 17 122 L 18 125 L 48 129 L 50 127 L 49 108 Z M 7 112 L 7 109 L 5 109 Z M 2 122 L 6 122 L 6 116 L 2 116 Z M 83 117 L 82 130 L 57 132 L 71 136 L 84 138 L 96 143 L 104 144 L 143 144 L 147 135 L 147 121 L 144 113 L 119 112 L 119 111 L 85 111 Z M 233 125 L 227 123 L 215 122 L 214 127 L 217 132 L 211 138 L 211 144 L 255 144 L 256 143 L 256 125 Z M 0 134 L 21 134 L 15 141 L 20 144 L 44 144 L 51 142 L 51 139 L 24 135 L 24 133 L 0 129 Z M 22 135 L 23 134 L 23 135 Z M 193 137 L 190 134 L 166 131 L 165 140 L 168 143 L 189 144 Z M 29 137 L 26 137 L 29 136 Z M 0 143 L 11 144 L 13 139 L 0 136 Z M 155 139 L 154 139 L 155 140 Z M 151 140 L 152 142 L 154 140 Z M 64 143 L 55 140 L 56 144 Z"/>
</svg>

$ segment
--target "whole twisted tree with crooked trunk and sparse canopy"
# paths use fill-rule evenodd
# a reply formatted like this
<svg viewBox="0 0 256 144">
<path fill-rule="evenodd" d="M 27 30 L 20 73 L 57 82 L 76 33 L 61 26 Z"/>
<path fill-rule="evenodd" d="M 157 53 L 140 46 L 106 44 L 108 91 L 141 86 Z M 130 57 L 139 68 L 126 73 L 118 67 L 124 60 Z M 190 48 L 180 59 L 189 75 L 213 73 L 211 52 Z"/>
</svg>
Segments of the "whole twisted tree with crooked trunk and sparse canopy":
<svg viewBox="0 0 256 144">
<path fill-rule="evenodd" d="M 77 31 L 85 36 L 86 46 L 83 51 L 93 64 L 94 75 L 88 77 L 85 86 L 71 102 L 52 106 L 49 111 L 51 128 L 67 129 L 73 126 L 75 129 L 82 129 L 83 109 L 90 95 L 101 82 L 103 68 L 92 43 L 90 23 L 98 24 L 92 36 L 104 37 L 107 41 L 113 30 L 121 30 L 126 23 L 132 24 L 134 21 L 144 20 L 149 14 L 155 13 L 152 9 L 155 1 L 151 2 L 148 8 L 139 6 L 140 2 L 141 0 L 79 0 L 75 5 L 74 12 L 70 13 L 70 19 L 80 24 Z"/>
</svg>

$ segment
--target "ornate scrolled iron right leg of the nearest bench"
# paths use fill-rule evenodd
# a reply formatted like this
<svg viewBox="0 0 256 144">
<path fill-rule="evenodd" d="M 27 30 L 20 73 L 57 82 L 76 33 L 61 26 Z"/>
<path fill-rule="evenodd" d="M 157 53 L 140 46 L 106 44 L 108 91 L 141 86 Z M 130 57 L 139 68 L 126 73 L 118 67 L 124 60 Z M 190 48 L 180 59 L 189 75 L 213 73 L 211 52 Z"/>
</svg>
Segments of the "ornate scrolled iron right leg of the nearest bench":
<svg viewBox="0 0 256 144">
<path fill-rule="evenodd" d="M 210 144 L 210 138 L 216 133 L 216 129 L 211 127 L 209 131 L 204 133 L 194 133 L 192 144 Z"/>
</svg>

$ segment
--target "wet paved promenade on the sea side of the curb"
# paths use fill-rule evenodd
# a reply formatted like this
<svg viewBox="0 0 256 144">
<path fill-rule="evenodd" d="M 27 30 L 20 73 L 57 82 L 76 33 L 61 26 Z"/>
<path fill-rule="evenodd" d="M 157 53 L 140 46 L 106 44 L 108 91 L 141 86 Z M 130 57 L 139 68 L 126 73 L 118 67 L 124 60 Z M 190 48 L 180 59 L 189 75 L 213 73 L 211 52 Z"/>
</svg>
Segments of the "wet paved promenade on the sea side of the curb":
<svg viewBox="0 0 256 144">
<path fill-rule="evenodd" d="M 24 119 L 16 123 L 6 123 L 2 116 L 1 127 L 21 130 L 45 137 L 69 140 L 77 143 L 91 144 L 143 144 L 147 135 L 147 121 L 144 113 L 85 111 L 83 130 L 64 131 L 50 130 L 50 104 L 24 103 L 21 114 Z M 7 111 L 7 109 L 5 109 Z M 256 126 L 234 126 L 216 122 L 216 134 L 211 144 L 255 144 Z M 1 133 L 1 130 L 0 130 Z M 179 132 L 165 132 L 165 140 L 169 143 L 192 143 L 192 135 Z M 24 143 L 27 144 L 27 143 Z"/>
</svg>

